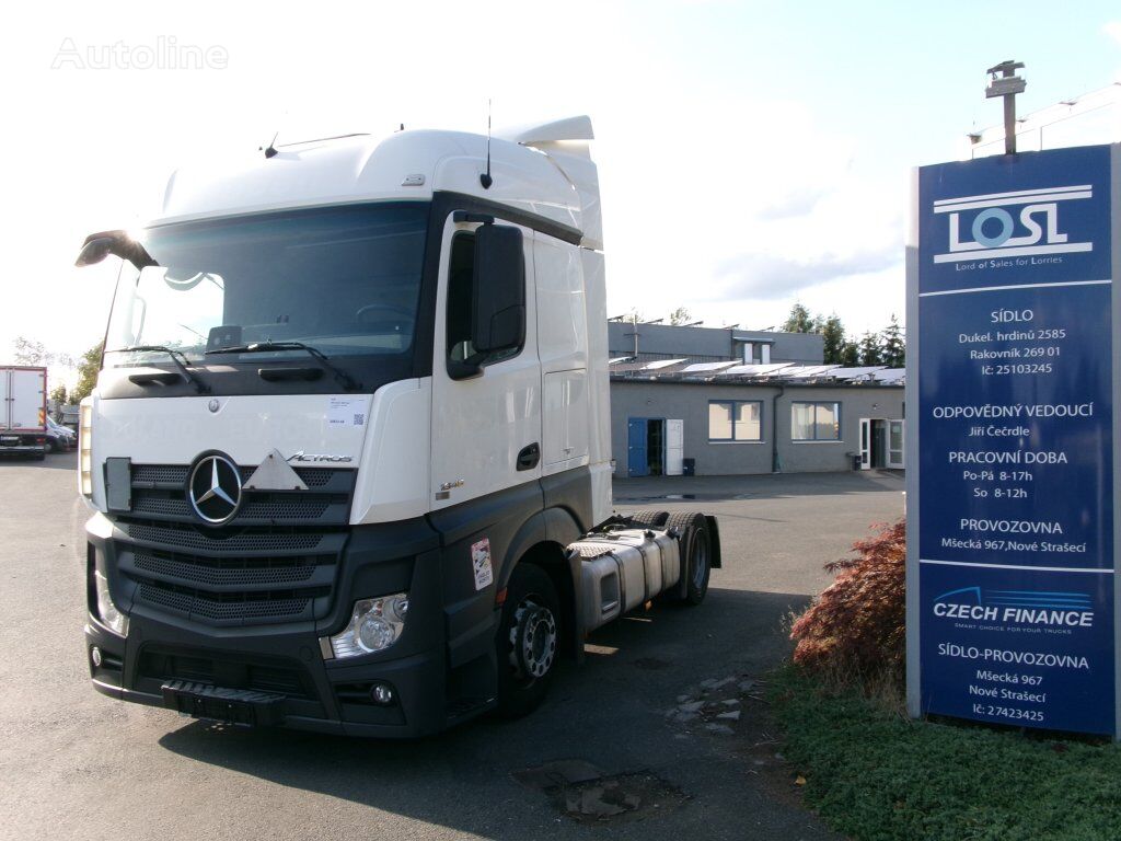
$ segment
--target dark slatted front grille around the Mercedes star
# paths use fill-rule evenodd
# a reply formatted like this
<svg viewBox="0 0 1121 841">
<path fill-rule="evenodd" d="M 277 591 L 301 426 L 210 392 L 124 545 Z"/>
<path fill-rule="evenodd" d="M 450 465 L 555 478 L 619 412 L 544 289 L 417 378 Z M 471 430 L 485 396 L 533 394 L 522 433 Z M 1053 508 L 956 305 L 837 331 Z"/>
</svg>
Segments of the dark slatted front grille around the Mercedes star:
<svg viewBox="0 0 1121 841">
<path fill-rule="evenodd" d="M 237 516 L 220 528 L 194 515 L 188 472 L 132 465 L 131 509 L 115 515 L 123 538 L 114 554 L 137 584 L 133 603 L 211 626 L 323 618 L 346 542 L 354 471 L 299 468 L 306 491 L 245 490 Z"/>
</svg>

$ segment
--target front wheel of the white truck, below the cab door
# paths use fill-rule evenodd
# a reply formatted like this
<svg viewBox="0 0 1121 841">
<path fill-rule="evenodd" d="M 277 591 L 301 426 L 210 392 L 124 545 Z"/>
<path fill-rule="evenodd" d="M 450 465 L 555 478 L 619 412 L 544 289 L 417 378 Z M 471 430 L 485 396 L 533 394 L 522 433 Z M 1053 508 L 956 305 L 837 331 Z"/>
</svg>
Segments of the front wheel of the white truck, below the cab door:
<svg viewBox="0 0 1121 841">
<path fill-rule="evenodd" d="M 541 567 L 513 567 L 495 649 L 499 714 L 521 718 L 545 700 L 560 653 L 560 602 Z"/>
</svg>

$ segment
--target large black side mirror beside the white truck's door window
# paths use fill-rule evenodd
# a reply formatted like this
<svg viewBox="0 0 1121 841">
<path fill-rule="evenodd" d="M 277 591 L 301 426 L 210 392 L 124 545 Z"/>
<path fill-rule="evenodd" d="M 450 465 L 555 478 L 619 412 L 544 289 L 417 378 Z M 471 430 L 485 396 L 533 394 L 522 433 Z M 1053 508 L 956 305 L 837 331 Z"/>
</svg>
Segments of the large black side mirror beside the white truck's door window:
<svg viewBox="0 0 1121 841">
<path fill-rule="evenodd" d="M 471 342 L 478 353 L 516 350 L 526 342 L 526 257 L 521 231 L 484 224 L 475 231 Z"/>
</svg>

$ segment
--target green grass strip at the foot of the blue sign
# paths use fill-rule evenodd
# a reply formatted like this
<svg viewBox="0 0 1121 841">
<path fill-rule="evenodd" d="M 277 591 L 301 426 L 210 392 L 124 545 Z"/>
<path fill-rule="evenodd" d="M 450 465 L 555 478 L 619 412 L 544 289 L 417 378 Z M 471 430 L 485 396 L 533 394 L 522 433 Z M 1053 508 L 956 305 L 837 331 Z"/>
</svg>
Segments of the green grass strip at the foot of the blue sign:
<svg viewBox="0 0 1121 841">
<path fill-rule="evenodd" d="M 796 666 L 770 692 L 807 803 L 854 841 L 1121 839 L 1115 745 L 909 721 Z"/>
</svg>

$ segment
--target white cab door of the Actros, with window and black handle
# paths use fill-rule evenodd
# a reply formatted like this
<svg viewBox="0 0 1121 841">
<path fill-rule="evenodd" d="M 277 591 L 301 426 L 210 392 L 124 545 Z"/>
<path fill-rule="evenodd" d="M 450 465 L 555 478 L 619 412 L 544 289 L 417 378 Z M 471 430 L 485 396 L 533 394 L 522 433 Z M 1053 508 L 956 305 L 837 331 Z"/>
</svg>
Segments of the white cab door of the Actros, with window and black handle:
<svg viewBox="0 0 1121 841">
<path fill-rule="evenodd" d="M 518 228 L 501 219 L 495 225 Z M 470 340 L 474 246 L 481 223 L 444 225 L 432 376 L 432 509 L 439 510 L 541 475 L 541 373 L 537 355 L 532 232 L 521 231 L 525 341 L 490 355 Z M 464 375 L 474 361 L 478 373 Z"/>
</svg>

